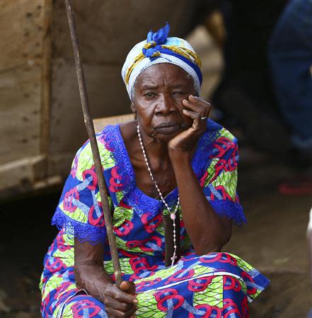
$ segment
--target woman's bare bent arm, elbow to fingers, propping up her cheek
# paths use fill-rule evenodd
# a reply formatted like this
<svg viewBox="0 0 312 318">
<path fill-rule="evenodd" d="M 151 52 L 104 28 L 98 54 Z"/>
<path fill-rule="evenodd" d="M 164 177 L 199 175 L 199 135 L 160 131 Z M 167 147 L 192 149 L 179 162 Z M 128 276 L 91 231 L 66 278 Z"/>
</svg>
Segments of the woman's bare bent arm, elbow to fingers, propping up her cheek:
<svg viewBox="0 0 312 318">
<path fill-rule="evenodd" d="M 195 145 L 206 130 L 206 118 L 211 106 L 202 98 L 192 95 L 188 100 L 183 100 L 183 106 L 186 108 L 183 114 L 192 118 L 193 124 L 169 141 L 168 153 L 179 189 L 185 228 L 195 252 L 202 255 L 220 251 L 229 242 L 232 222 L 214 212 L 191 165 Z"/>
</svg>

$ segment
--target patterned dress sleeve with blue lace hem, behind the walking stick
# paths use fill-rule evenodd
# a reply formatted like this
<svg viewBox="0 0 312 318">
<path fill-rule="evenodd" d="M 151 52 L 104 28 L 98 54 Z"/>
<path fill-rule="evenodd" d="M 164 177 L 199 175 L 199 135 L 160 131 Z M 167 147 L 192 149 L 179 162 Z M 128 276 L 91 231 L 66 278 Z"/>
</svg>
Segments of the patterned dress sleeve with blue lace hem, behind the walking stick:
<svg viewBox="0 0 312 318">
<path fill-rule="evenodd" d="M 110 154 L 99 141 L 98 148 L 105 169 L 105 163 L 110 161 Z M 110 197 L 108 199 L 111 207 Z M 96 245 L 106 240 L 98 179 L 88 141 L 76 153 L 52 218 L 52 225 L 57 225 L 59 230 L 63 229 L 69 237 L 76 237 L 80 242 Z"/>
</svg>

